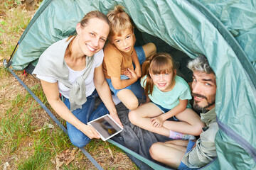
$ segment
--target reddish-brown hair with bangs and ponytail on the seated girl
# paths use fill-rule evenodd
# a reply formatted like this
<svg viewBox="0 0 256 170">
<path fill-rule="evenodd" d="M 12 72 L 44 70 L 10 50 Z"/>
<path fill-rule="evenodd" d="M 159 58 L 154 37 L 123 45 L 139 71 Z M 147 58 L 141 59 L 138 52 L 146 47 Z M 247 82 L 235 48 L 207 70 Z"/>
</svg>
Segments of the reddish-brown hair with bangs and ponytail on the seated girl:
<svg viewBox="0 0 256 170">
<path fill-rule="evenodd" d="M 146 81 L 146 85 L 144 87 L 145 94 L 150 95 L 153 93 L 154 82 L 150 77 L 150 74 L 165 74 L 170 73 L 173 74 L 171 86 L 175 84 L 175 64 L 174 60 L 168 53 L 157 53 L 154 55 L 151 60 L 146 60 L 142 64 L 142 74 L 143 77 L 146 75 L 146 79 L 144 80 L 143 84 Z"/>
</svg>

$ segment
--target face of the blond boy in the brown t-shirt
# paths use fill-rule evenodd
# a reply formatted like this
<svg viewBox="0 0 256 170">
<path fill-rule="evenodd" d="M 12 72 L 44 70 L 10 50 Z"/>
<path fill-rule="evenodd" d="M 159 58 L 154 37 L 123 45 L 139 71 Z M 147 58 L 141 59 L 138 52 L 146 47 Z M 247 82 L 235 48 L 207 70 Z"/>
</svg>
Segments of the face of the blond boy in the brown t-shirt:
<svg viewBox="0 0 256 170">
<path fill-rule="evenodd" d="M 117 49 L 121 52 L 131 52 L 132 47 L 134 45 L 134 38 L 133 38 L 133 30 L 132 29 L 125 29 L 122 31 L 120 36 L 113 35 L 110 38 L 112 44 L 114 44 Z"/>
</svg>

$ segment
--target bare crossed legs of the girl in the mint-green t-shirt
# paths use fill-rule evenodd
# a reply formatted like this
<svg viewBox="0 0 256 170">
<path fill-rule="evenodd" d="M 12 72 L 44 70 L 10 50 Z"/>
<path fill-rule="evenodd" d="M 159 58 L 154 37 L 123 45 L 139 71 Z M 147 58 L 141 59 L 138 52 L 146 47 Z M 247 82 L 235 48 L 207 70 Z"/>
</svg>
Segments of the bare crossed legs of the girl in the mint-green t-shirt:
<svg viewBox="0 0 256 170">
<path fill-rule="evenodd" d="M 174 136 L 176 135 L 180 135 L 183 138 L 185 137 L 183 136 L 184 134 L 188 134 L 186 137 L 191 139 L 191 135 L 200 135 L 202 128 L 205 126 L 197 113 L 191 108 L 186 108 L 185 111 L 176 115 L 176 118 L 180 121 L 165 120 L 161 127 L 154 127 L 151 123 L 151 118 L 161 114 L 163 114 L 161 109 L 150 102 L 139 106 L 134 111 L 130 111 L 129 120 L 140 128 L 172 138 L 175 138 Z M 171 132 L 174 132 L 174 134 L 171 134 Z"/>
</svg>

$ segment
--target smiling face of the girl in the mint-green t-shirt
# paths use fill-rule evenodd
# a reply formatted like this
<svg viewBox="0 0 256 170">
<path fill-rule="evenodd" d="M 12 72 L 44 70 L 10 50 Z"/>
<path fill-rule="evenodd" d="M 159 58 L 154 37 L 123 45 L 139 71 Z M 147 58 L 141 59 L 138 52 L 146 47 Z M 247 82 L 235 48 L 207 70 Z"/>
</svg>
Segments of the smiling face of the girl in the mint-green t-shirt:
<svg viewBox="0 0 256 170">
<path fill-rule="evenodd" d="M 173 89 L 173 84 L 171 84 L 171 82 L 174 79 L 174 75 L 173 72 L 169 73 L 161 73 L 161 74 L 152 74 L 149 73 L 150 77 L 154 83 L 154 85 L 157 86 L 157 88 L 161 91 L 171 91 L 171 89 Z"/>
</svg>

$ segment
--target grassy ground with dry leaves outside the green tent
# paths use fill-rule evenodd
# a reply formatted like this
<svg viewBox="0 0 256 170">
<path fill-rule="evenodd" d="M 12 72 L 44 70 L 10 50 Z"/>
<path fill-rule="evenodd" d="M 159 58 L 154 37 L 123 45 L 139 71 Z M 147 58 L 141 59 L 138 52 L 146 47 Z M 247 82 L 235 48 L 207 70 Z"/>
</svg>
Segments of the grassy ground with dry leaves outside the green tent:
<svg viewBox="0 0 256 170">
<path fill-rule="evenodd" d="M 3 67 L 31 20 L 36 9 L 27 11 L 24 1 L 0 2 L 0 169 L 58 169 L 56 158 L 70 149 L 75 159 L 60 169 L 95 169 L 68 136 L 51 120 L 46 111 Z M 20 79 L 50 108 L 41 84 L 31 75 Z M 65 125 L 65 121 L 60 123 Z M 121 149 L 102 140 L 92 140 L 85 147 L 103 169 L 138 169 Z"/>
</svg>

